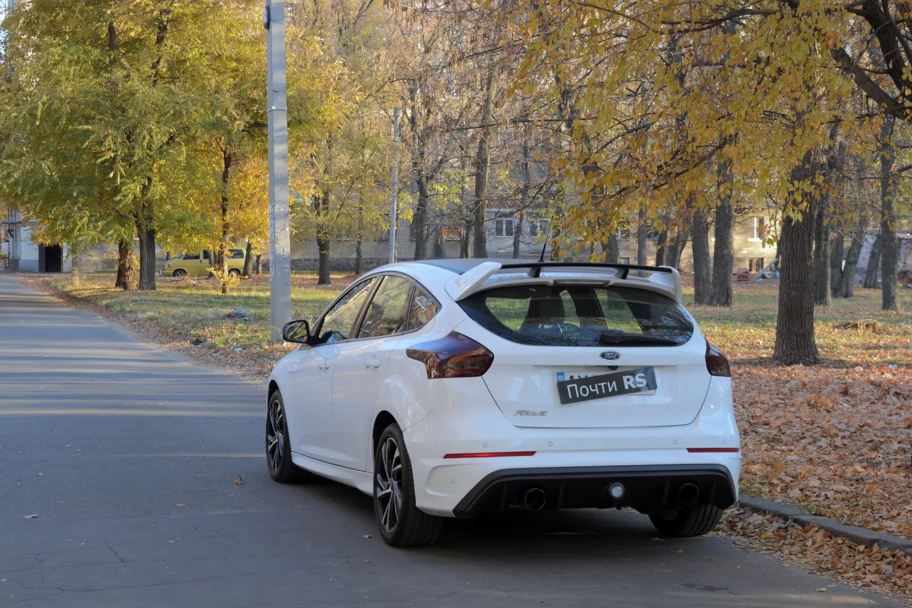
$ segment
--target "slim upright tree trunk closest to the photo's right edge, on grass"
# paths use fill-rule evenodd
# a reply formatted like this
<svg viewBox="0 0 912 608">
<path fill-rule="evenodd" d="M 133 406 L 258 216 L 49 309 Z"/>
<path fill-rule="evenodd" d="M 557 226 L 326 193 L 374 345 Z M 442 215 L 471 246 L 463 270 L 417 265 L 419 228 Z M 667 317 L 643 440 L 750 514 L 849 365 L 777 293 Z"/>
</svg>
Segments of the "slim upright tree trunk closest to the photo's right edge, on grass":
<svg viewBox="0 0 912 608">
<path fill-rule="evenodd" d="M 899 247 L 896 241 L 896 154 L 893 149 L 893 118 L 884 120 L 880 154 L 880 285 L 883 310 L 899 310 L 896 283 Z"/>
</svg>

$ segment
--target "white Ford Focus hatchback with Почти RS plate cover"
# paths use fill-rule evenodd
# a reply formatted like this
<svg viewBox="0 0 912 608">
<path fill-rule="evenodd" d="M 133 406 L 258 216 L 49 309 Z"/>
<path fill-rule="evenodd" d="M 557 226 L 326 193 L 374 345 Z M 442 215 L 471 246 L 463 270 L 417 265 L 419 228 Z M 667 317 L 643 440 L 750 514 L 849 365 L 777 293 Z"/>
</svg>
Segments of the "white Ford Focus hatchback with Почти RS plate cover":
<svg viewBox="0 0 912 608">
<path fill-rule="evenodd" d="M 679 273 L 606 263 L 428 260 L 380 267 L 269 378 L 276 481 L 374 497 L 384 541 L 440 518 L 632 507 L 674 537 L 738 499 L 728 361 L 681 306 Z"/>
</svg>

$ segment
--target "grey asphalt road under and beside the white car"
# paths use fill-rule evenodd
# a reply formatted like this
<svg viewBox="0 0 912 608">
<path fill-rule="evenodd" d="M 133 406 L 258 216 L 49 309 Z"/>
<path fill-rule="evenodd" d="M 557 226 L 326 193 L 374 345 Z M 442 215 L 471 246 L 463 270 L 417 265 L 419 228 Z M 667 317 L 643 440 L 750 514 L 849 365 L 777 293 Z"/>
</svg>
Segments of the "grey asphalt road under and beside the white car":
<svg viewBox="0 0 912 608">
<path fill-rule="evenodd" d="M 263 450 L 263 386 L 0 273 L 0 606 L 899 605 L 616 511 L 453 521 L 391 549 L 367 497 L 275 484 Z"/>
</svg>

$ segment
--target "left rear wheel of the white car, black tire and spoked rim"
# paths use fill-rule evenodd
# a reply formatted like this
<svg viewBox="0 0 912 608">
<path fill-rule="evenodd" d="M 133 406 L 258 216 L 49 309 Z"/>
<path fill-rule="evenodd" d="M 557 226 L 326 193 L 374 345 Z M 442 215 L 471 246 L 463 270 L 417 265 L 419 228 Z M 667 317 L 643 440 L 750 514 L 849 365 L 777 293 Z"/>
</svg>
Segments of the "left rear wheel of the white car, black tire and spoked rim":
<svg viewBox="0 0 912 608">
<path fill-rule="evenodd" d="M 420 547 L 440 538 L 440 518 L 415 506 L 411 460 L 396 423 L 374 447 L 374 514 L 380 536 L 392 547 Z"/>
</svg>

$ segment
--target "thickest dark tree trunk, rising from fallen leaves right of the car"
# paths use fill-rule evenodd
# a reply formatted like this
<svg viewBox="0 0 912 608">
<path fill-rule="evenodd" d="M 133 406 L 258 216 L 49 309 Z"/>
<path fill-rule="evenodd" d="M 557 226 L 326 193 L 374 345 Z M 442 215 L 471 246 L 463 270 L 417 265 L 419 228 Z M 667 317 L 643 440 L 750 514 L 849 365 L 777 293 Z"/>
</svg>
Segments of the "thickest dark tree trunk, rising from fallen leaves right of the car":
<svg viewBox="0 0 912 608">
<path fill-rule="evenodd" d="M 805 154 L 802 163 L 792 170 L 793 183 L 812 180 L 819 167 L 814 154 Z M 793 197 L 801 196 L 797 192 Z M 806 196 L 806 195 L 805 195 Z M 813 195 L 812 195 L 813 196 Z M 787 366 L 814 365 L 820 353 L 814 342 L 814 292 L 812 262 L 814 258 L 814 199 L 808 200 L 803 219 L 782 219 L 779 262 L 779 315 L 776 318 L 776 345 L 772 358 Z M 717 241 L 718 242 L 718 241 Z"/>
</svg>

